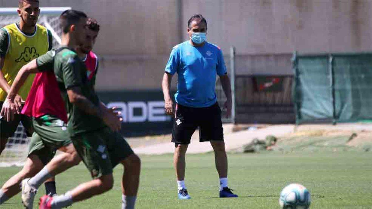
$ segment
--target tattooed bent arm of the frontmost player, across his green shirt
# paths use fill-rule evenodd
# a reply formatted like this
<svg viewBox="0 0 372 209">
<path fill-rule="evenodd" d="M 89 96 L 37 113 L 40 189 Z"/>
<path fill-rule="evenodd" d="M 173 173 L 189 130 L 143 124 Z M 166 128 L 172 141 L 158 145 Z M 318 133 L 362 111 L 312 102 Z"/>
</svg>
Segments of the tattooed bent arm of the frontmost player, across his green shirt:
<svg viewBox="0 0 372 209">
<path fill-rule="evenodd" d="M 81 88 L 78 86 L 71 87 L 67 90 L 68 99 L 76 105 L 80 110 L 83 110 L 89 115 L 94 115 L 101 118 L 103 122 L 109 126 L 112 131 L 119 131 L 121 128 L 120 120 L 112 113 L 107 111 L 107 108 L 100 103 L 99 106 L 94 105 L 89 99 L 81 94 Z"/>
</svg>

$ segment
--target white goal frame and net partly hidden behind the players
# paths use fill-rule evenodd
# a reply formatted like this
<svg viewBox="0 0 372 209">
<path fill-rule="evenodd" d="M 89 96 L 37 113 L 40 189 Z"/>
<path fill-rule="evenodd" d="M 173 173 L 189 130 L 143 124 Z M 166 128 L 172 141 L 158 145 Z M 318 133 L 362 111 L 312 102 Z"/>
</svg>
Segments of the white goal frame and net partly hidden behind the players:
<svg viewBox="0 0 372 209">
<path fill-rule="evenodd" d="M 49 29 L 53 36 L 53 48 L 58 47 L 61 43 L 61 29 L 59 27 L 58 18 L 61 13 L 71 7 L 41 7 L 38 24 Z M 6 25 L 19 22 L 16 7 L 0 8 L 0 28 Z M 6 144 L 6 148 L 0 155 L 0 167 L 8 167 L 12 165 L 22 166 L 27 157 L 28 144 L 30 138 L 20 123 L 17 131 Z"/>
</svg>

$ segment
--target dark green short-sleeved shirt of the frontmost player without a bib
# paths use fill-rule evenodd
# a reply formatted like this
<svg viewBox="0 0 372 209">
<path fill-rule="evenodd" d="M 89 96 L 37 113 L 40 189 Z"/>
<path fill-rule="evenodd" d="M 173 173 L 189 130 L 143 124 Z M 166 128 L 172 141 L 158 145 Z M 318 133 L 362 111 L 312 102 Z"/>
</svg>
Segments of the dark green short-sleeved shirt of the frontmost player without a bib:
<svg viewBox="0 0 372 209">
<path fill-rule="evenodd" d="M 90 115 L 70 102 L 67 90 L 80 87 L 81 94 L 94 105 L 99 106 L 99 99 L 93 85 L 87 78 L 87 68 L 76 52 L 67 47 L 48 51 L 37 58 L 36 63 L 40 71 L 54 72 L 58 87 L 65 102 L 68 113 L 68 131 L 71 136 L 103 128 L 102 119 Z"/>
</svg>

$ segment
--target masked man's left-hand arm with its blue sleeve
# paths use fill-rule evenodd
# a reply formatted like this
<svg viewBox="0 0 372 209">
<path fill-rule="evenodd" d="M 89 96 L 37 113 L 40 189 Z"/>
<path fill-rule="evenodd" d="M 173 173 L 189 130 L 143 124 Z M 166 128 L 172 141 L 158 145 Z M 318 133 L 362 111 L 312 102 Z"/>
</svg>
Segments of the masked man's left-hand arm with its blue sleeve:
<svg viewBox="0 0 372 209">
<path fill-rule="evenodd" d="M 164 94 L 164 109 L 167 115 L 173 115 L 173 101 L 170 96 L 170 83 L 172 81 L 173 75 L 177 72 L 180 64 L 180 56 L 178 48 L 174 47 L 170 52 L 169 60 L 165 67 L 165 73 L 163 75 L 163 81 L 161 82 L 161 87 Z"/>
</svg>

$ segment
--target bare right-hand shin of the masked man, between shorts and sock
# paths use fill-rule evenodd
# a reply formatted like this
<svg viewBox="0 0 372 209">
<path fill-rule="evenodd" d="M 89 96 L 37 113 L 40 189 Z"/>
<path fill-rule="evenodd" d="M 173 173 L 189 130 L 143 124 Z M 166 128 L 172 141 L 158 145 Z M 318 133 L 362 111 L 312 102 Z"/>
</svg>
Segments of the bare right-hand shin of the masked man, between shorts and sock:
<svg viewBox="0 0 372 209">
<path fill-rule="evenodd" d="M 219 178 L 227 178 L 227 155 L 225 142 L 211 141 L 214 150 L 214 157 Z"/>
</svg>

